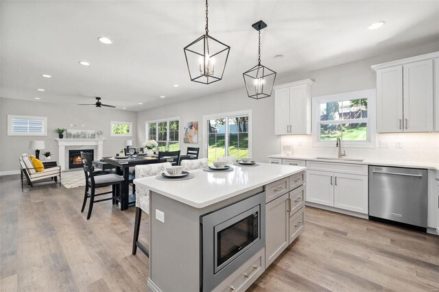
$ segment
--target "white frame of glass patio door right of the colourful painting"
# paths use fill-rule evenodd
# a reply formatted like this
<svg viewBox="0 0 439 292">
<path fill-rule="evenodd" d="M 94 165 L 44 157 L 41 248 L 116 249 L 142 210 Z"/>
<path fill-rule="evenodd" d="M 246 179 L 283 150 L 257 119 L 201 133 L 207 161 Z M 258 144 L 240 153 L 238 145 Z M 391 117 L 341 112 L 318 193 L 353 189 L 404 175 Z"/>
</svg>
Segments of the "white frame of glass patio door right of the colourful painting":
<svg viewBox="0 0 439 292">
<path fill-rule="evenodd" d="M 207 124 L 207 120 L 210 119 L 226 119 L 226 121 L 228 121 L 228 119 L 230 118 L 237 118 L 237 117 L 243 117 L 243 116 L 248 116 L 248 156 L 252 157 L 253 156 L 253 136 L 252 136 L 252 110 L 239 110 L 236 112 L 221 112 L 221 113 L 217 113 L 217 114 L 205 114 L 203 116 L 203 138 L 204 138 L 204 145 L 202 147 L 202 151 L 203 151 L 203 157 L 206 157 L 209 159 L 209 157 L 207 156 L 207 154 L 209 154 L 209 132 L 207 130 L 206 124 Z M 225 143 L 226 143 L 226 154 L 224 154 L 225 156 L 228 156 L 228 147 L 230 146 L 228 144 L 228 127 L 225 127 Z"/>
</svg>

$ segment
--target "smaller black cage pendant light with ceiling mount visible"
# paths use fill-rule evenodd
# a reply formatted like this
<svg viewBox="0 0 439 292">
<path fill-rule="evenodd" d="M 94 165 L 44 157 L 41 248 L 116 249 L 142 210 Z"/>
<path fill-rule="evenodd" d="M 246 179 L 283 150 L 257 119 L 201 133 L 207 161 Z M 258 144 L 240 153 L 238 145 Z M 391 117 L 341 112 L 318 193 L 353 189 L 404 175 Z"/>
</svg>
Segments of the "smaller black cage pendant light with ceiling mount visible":
<svg viewBox="0 0 439 292">
<path fill-rule="evenodd" d="M 252 27 L 256 29 L 259 34 L 258 64 L 242 75 L 244 76 L 244 84 L 246 84 L 248 97 L 262 99 L 272 95 L 276 72 L 261 64 L 261 29 L 267 27 L 267 25 L 263 21 L 258 21 L 254 23 Z"/>
</svg>

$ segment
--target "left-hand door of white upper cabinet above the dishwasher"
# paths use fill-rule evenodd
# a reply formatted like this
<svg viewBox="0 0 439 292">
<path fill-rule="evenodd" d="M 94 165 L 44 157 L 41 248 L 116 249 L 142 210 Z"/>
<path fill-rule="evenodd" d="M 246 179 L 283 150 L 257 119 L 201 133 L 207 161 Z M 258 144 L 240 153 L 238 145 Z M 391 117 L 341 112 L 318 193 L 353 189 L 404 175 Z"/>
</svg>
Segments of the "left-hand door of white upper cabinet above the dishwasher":
<svg viewBox="0 0 439 292">
<path fill-rule="evenodd" d="M 377 71 L 377 132 L 403 132 L 403 66 Z"/>
</svg>

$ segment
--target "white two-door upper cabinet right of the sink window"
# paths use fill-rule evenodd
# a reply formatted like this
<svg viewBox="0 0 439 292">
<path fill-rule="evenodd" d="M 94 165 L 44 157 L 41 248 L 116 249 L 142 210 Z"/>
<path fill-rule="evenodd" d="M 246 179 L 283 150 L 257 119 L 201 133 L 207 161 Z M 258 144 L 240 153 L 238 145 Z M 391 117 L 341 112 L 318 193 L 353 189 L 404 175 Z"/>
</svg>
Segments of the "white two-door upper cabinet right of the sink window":
<svg viewBox="0 0 439 292">
<path fill-rule="evenodd" d="M 438 56 L 429 53 L 372 66 L 377 71 L 377 132 L 434 130 L 433 58 Z M 438 120 L 436 113 L 436 124 Z"/>
</svg>

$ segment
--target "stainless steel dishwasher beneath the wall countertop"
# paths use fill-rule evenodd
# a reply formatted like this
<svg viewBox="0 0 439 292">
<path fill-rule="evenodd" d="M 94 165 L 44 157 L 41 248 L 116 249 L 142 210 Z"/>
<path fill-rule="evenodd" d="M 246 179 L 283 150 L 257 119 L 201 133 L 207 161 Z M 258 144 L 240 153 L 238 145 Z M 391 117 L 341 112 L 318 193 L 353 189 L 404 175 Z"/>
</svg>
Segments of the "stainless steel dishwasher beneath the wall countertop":
<svg viewBox="0 0 439 292">
<path fill-rule="evenodd" d="M 369 166 L 369 217 L 427 228 L 427 170 Z"/>
</svg>

